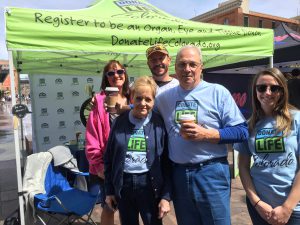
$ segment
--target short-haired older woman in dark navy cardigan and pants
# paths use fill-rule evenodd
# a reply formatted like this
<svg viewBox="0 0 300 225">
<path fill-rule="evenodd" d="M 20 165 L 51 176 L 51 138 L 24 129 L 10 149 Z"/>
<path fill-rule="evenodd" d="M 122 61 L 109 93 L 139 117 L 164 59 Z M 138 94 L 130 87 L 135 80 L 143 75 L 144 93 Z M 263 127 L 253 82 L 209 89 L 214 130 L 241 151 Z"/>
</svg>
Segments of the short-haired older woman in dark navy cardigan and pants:
<svg viewBox="0 0 300 225">
<path fill-rule="evenodd" d="M 105 152 L 106 203 L 119 209 L 122 225 L 161 225 L 170 211 L 170 162 L 162 118 L 152 112 L 156 84 L 139 77 L 133 109 L 114 122 Z"/>
</svg>

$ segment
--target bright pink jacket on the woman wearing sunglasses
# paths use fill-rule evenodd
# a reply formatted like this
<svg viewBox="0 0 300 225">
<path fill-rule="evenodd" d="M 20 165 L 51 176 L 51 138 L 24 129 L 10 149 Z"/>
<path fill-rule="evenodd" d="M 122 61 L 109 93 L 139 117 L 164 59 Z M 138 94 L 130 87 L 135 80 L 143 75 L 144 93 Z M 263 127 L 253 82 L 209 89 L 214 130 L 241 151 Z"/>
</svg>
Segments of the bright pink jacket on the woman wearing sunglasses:
<svg viewBox="0 0 300 225">
<path fill-rule="evenodd" d="M 104 170 L 103 156 L 110 132 L 109 115 L 103 107 L 104 93 L 95 96 L 95 105 L 90 112 L 86 125 L 85 154 L 89 161 L 89 171 L 97 175 Z"/>
</svg>

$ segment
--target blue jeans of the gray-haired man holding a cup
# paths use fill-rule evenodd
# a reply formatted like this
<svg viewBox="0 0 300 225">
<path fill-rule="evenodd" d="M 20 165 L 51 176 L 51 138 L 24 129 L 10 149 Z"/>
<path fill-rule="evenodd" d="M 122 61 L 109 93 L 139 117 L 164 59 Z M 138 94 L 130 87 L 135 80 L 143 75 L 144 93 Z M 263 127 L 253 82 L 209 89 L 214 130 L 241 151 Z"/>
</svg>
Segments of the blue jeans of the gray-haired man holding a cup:
<svg viewBox="0 0 300 225">
<path fill-rule="evenodd" d="M 230 225 L 230 172 L 226 158 L 205 165 L 173 166 L 178 225 Z"/>
</svg>

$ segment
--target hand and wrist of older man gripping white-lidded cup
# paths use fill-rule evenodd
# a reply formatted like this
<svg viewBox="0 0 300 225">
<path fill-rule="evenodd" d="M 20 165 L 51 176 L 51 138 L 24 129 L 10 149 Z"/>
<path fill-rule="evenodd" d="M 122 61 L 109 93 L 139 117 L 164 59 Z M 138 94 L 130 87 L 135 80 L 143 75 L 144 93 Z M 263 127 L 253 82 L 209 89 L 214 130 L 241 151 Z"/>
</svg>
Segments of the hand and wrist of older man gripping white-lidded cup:
<svg viewBox="0 0 300 225">
<path fill-rule="evenodd" d="M 218 130 L 207 129 L 196 123 L 181 123 L 180 134 L 183 138 L 191 141 L 207 141 L 211 143 L 218 143 L 220 141 Z"/>
</svg>

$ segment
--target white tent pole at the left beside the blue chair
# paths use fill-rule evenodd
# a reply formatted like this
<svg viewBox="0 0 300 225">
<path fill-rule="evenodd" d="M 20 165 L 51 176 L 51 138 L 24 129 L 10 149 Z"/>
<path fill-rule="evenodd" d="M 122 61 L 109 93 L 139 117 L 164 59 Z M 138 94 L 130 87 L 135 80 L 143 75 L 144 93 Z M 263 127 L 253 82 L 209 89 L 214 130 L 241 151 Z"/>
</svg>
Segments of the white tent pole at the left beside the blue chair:
<svg viewBox="0 0 300 225">
<path fill-rule="evenodd" d="M 9 60 L 9 76 L 10 76 L 10 88 L 11 88 L 11 97 L 12 105 L 16 104 L 16 91 L 15 91 L 15 73 L 14 73 L 14 64 L 12 51 L 8 51 L 8 60 Z M 17 118 L 14 116 L 14 120 Z M 18 198 L 19 198 L 19 209 L 20 209 L 20 222 L 21 225 L 25 225 L 24 220 L 24 201 L 22 193 L 22 173 L 21 173 L 21 160 L 20 160 L 20 143 L 19 143 L 19 130 L 18 126 L 14 127 L 14 139 L 15 139 L 15 153 L 16 153 L 16 169 L 17 169 L 17 182 L 18 182 Z"/>
</svg>

